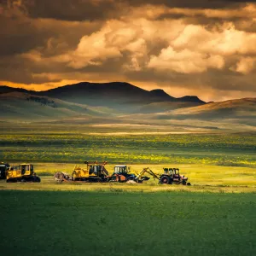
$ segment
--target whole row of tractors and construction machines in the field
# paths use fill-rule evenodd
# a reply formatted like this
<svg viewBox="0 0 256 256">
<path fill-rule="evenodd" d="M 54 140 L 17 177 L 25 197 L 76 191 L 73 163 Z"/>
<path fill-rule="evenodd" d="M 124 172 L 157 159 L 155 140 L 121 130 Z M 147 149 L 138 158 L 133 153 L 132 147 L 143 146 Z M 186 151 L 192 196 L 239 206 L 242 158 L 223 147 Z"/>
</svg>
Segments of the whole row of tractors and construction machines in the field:
<svg viewBox="0 0 256 256">
<path fill-rule="evenodd" d="M 106 169 L 107 162 L 84 162 L 84 168 L 80 166 L 74 166 L 73 172 L 69 175 L 66 172 L 55 172 L 54 178 L 58 183 L 62 182 L 131 182 L 131 183 L 143 183 L 150 177 L 158 179 L 161 184 L 183 184 L 190 185 L 188 183 L 188 177 L 180 175 L 178 168 L 163 168 L 164 172 L 157 174 L 150 168 L 143 168 L 142 172 L 132 173 L 128 166 L 114 166 L 113 173 L 109 174 Z M 40 177 L 34 172 L 32 164 L 20 164 L 19 166 L 9 166 L 7 163 L 0 164 L 0 178 L 6 179 L 8 183 L 15 182 L 36 182 L 41 181 Z"/>
</svg>

